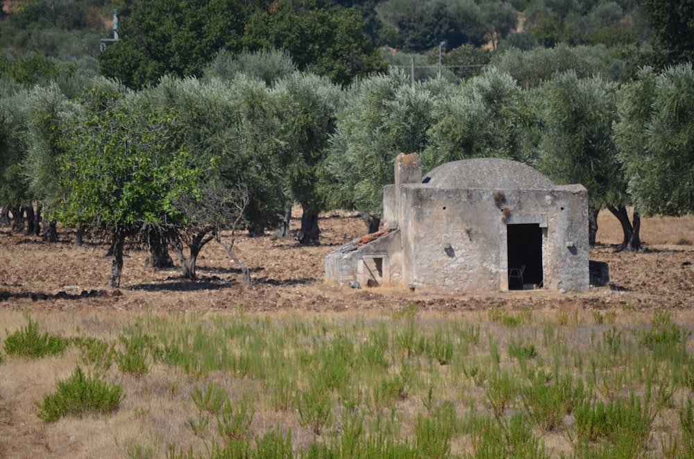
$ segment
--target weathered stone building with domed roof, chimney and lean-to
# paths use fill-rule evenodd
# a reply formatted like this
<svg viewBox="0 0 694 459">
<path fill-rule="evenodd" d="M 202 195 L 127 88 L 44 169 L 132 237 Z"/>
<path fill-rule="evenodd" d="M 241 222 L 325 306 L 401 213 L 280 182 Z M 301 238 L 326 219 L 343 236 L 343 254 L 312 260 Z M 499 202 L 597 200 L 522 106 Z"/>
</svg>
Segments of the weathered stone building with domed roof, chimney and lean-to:
<svg viewBox="0 0 694 459">
<path fill-rule="evenodd" d="M 465 159 L 422 177 L 400 154 L 385 229 L 325 258 L 329 282 L 439 292 L 589 288 L 588 192 L 507 159 Z"/>
</svg>

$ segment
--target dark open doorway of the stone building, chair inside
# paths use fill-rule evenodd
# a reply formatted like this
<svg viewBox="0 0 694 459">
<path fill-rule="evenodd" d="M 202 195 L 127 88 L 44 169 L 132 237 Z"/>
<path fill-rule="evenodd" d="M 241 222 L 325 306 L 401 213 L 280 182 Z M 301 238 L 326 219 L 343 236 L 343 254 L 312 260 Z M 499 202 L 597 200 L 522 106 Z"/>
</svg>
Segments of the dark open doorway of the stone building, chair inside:
<svg viewBox="0 0 694 459">
<path fill-rule="evenodd" d="M 542 285 L 542 229 L 539 224 L 506 225 L 509 290 Z"/>
</svg>

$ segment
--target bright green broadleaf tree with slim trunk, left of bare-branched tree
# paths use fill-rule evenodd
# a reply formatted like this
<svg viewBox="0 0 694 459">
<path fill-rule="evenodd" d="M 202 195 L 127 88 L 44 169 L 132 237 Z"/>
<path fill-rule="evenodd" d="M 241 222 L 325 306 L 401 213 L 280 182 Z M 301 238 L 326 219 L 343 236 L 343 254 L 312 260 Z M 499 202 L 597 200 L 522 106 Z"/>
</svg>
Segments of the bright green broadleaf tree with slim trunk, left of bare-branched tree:
<svg viewBox="0 0 694 459">
<path fill-rule="evenodd" d="M 199 195 L 200 173 L 178 136 L 174 112 L 110 86 L 96 83 L 81 97 L 78 116 L 65 122 L 59 216 L 112 241 L 109 285 L 117 287 L 126 239 L 185 224 L 176 202 Z"/>
</svg>

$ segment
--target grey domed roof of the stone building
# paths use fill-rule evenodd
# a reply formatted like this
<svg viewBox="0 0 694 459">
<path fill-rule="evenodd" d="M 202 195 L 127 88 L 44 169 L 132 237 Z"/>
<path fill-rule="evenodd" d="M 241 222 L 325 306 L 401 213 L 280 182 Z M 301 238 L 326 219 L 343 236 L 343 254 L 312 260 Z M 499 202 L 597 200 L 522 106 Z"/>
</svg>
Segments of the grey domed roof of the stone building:
<svg viewBox="0 0 694 459">
<path fill-rule="evenodd" d="M 555 184 L 534 168 L 500 158 L 448 162 L 432 169 L 422 183 L 443 189 L 553 189 Z"/>
</svg>

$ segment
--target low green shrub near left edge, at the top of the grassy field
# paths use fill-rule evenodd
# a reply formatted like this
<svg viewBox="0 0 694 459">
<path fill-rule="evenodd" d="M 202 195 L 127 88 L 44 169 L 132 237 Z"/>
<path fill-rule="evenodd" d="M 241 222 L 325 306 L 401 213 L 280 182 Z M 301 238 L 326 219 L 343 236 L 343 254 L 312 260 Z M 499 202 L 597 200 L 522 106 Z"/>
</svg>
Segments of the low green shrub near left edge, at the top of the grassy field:
<svg viewBox="0 0 694 459">
<path fill-rule="evenodd" d="M 47 331 L 41 333 L 39 324 L 25 314 L 26 326 L 10 334 L 6 329 L 7 338 L 3 347 L 10 356 L 22 357 L 44 357 L 62 355 L 65 348 L 69 345 L 69 340 L 60 335 L 49 334 Z"/>
</svg>

